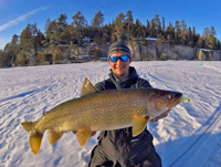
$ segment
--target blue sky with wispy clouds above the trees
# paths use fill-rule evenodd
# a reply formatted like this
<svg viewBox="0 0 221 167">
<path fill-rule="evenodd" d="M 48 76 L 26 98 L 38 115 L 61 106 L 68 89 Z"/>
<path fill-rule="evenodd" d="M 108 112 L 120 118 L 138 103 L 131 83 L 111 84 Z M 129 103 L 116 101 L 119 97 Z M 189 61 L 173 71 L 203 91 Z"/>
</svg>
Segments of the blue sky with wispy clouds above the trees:
<svg viewBox="0 0 221 167">
<path fill-rule="evenodd" d="M 196 27 L 202 34 L 204 28 L 213 25 L 221 40 L 221 0 L 0 0 L 0 49 L 11 42 L 13 34 L 20 35 L 28 23 L 36 23 L 44 32 L 48 19 L 55 20 L 60 14 L 67 15 L 67 23 L 81 10 L 91 24 L 95 13 L 101 11 L 105 22 L 112 22 L 120 12 L 133 11 L 134 21 L 139 19 L 146 25 L 155 14 L 166 27 L 178 20 L 188 27 Z"/>
</svg>

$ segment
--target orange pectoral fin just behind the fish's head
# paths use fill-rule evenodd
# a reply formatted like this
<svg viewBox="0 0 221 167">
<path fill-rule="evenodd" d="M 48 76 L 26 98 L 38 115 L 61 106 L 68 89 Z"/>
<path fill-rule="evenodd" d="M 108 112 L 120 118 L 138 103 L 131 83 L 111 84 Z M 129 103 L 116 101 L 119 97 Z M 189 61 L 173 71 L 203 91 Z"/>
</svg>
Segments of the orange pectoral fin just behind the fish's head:
<svg viewBox="0 0 221 167">
<path fill-rule="evenodd" d="M 139 135 L 145 129 L 148 119 L 137 115 L 133 117 L 133 137 Z"/>
</svg>

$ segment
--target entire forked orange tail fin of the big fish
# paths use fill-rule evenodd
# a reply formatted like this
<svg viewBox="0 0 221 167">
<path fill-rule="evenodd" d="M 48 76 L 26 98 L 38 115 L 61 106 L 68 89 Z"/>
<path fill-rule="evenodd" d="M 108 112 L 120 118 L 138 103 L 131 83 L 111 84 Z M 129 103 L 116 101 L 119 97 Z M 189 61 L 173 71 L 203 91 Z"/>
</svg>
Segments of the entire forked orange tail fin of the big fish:
<svg viewBox="0 0 221 167">
<path fill-rule="evenodd" d="M 30 134 L 29 143 L 31 150 L 33 152 L 34 155 L 38 155 L 43 134 L 35 129 L 34 122 L 23 122 L 21 123 L 21 125 Z"/>
</svg>

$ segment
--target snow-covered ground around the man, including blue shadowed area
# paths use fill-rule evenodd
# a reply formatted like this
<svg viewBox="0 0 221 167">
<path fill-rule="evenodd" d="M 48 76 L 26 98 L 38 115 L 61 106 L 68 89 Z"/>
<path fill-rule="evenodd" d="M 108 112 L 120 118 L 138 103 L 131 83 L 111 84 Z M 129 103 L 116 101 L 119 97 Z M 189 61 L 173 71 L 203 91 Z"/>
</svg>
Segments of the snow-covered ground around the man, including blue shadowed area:
<svg viewBox="0 0 221 167">
<path fill-rule="evenodd" d="M 148 123 L 164 166 L 221 166 L 221 62 L 133 62 L 154 87 L 179 91 L 192 103 L 180 104 L 158 124 Z M 0 167 L 87 166 L 97 135 L 81 148 L 66 133 L 51 147 L 46 134 L 38 156 L 20 125 L 81 95 L 84 77 L 107 79 L 107 62 L 0 70 Z"/>
</svg>

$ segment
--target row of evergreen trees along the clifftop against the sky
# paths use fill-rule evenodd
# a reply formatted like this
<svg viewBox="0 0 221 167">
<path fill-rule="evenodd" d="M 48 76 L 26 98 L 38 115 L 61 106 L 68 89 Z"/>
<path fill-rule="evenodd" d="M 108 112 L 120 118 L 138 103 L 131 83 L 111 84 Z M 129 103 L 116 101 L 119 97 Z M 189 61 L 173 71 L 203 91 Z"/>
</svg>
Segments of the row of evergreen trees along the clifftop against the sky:
<svg viewBox="0 0 221 167">
<path fill-rule="evenodd" d="M 88 45 L 91 42 L 95 45 L 106 45 L 107 42 L 113 43 L 117 40 L 137 41 L 137 39 L 141 44 L 147 44 L 146 38 L 157 38 L 158 43 L 162 44 L 221 50 L 214 27 L 204 28 L 200 35 L 196 32 L 196 28 L 188 27 L 185 20 L 176 21 L 175 24 L 169 22 L 166 27 L 165 18 L 160 19 L 156 14 L 143 24 L 139 19 L 134 20 L 131 11 L 127 11 L 126 14 L 119 13 L 108 24 L 104 24 L 104 14 L 98 11 L 88 24 L 78 11 L 72 17 L 70 24 L 66 14 L 60 14 L 53 21 L 48 19 L 44 32 L 39 30 L 36 24 L 28 24 L 20 35 L 12 36 L 3 51 L 0 50 L 0 66 L 25 65 L 31 59 L 30 55 L 40 64 L 49 61 L 49 54 L 53 55 L 54 62 L 63 60 L 62 45 L 66 45 L 71 51 L 76 46 Z M 66 54 L 65 58 L 69 59 L 71 52 Z"/>
</svg>

